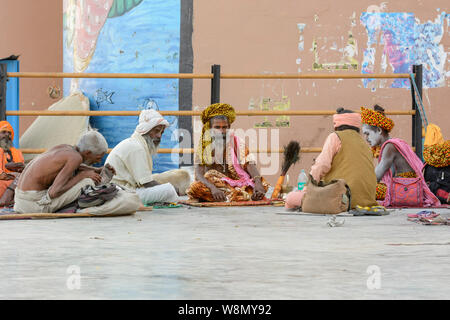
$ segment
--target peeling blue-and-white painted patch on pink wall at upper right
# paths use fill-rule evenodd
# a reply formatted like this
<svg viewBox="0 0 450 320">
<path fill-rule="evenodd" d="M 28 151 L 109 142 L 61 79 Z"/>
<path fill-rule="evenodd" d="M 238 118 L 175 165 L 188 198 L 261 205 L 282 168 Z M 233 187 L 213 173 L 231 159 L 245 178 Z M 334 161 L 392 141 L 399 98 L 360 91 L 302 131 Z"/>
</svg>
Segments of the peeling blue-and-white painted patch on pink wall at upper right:
<svg viewBox="0 0 450 320">
<path fill-rule="evenodd" d="M 424 88 L 445 85 L 447 52 L 440 42 L 445 21 L 448 28 L 449 14 L 442 12 L 435 21 L 423 24 L 414 13 L 364 12 L 360 20 L 368 37 L 363 73 L 375 73 L 377 66 L 381 66 L 381 72 L 411 73 L 413 64 L 423 64 Z M 364 79 L 364 86 L 375 90 L 373 81 Z M 379 81 L 379 87 L 384 82 Z M 396 79 L 391 84 L 392 88 L 409 86 L 407 79 Z"/>
</svg>

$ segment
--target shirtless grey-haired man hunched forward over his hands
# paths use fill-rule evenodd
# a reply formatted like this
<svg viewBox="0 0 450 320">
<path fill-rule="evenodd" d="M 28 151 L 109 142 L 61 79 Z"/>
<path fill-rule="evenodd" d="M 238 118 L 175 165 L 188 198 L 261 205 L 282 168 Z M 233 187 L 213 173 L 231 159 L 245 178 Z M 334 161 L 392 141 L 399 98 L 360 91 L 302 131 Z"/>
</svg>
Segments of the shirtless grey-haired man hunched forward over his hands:
<svg viewBox="0 0 450 320">
<path fill-rule="evenodd" d="M 105 138 L 96 131 L 89 131 L 77 146 L 62 144 L 37 156 L 19 177 L 14 211 L 54 213 L 76 201 L 85 187 L 109 182 L 113 168 L 89 167 L 99 162 L 107 150 Z M 136 194 L 119 190 L 112 200 L 77 212 L 126 214 L 135 212 L 139 206 Z"/>
</svg>

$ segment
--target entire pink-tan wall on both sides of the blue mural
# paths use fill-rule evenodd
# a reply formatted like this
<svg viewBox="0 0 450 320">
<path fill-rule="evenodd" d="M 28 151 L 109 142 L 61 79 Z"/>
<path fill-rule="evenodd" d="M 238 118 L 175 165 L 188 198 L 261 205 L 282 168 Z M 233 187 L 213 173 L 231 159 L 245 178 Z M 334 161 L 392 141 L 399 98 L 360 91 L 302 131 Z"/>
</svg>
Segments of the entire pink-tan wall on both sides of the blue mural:
<svg viewBox="0 0 450 320">
<path fill-rule="evenodd" d="M 0 0 L 0 57 L 21 54 L 21 71 L 62 71 L 63 1 Z M 194 1 L 193 51 L 194 73 L 209 73 L 212 64 L 220 64 L 222 73 L 287 74 L 287 73 L 361 73 L 368 33 L 361 23 L 363 12 L 412 13 L 416 23 L 436 22 L 442 12 L 450 12 L 448 1 L 292 1 L 292 0 L 208 0 Z M 425 88 L 424 104 L 428 119 L 450 138 L 449 61 L 450 33 L 448 19 L 443 23 L 443 36 L 437 45 L 441 50 L 444 78 L 440 87 Z M 300 24 L 300 25 L 299 25 Z M 304 24 L 304 28 L 301 28 Z M 299 28 L 300 27 L 300 28 Z M 349 46 L 349 32 L 355 41 Z M 320 63 L 356 61 L 357 70 L 314 70 L 317 43 Z M 426 40 L 428 41 L 428 40 Z M 303 45 L 303 46 L 302 46 Z M 392 73 L 383 67 L 383 45 L 377 50 L 375 72 Z M 352 53 L 351 49 L 355 52 Z M 350 51 L 349 51 L 350 50 Z M 345 58 L 345 52 L 348 58 Z M 447 56 L 445 56 L 445 54 Z M 437 61 L 437 60 L 436 60 Z M 425 66 L 427 67 L 427 66 Z M 375 90 L 365 88 L 361 80 L 222 80 L 221 101 L 237 110 L 259 109 L 263 99 L 271 108 L 289 103 L 290 110 L 334 110 L 338 107 L 358 109 L 379 103 L 387 110 L 409 110 L 408 89 L 390 88 L 389 80 L 377 82 Z M 20 80 L 20 108 L 46 109 L 56 100 L 48 96 L 51 85 L 62 88 L 61 80 Z M 210 81 L 194 80 L 193 106 L 203 109 L 210 102 Z M 33 121 L 22 117 L 21 133 Z M 394 136 L 411 141 L 411 118 L 393 116 Z M 268 118 L 275 127 L 275 117 Z M 234 127 L 249 129 L 264 117 L 239 117 Z M 200 128 L 195 120 L 196 131 Z M 278 128 L 280 147 L 298 139 L 303 147 L 321 147 L 332 130 L 331 117 L 290 117 L 289 128 Z M 270 135 L 271 129 L 268 129 Z M 197 145 L 198 134 L 194 145 Z M 309 169 L 317 154 L 302 154 L 299 164 L 290 171 L 291 182 L 301 168 Z M 276 174 L 269 177 L 275 182 Z"/>
</svg>

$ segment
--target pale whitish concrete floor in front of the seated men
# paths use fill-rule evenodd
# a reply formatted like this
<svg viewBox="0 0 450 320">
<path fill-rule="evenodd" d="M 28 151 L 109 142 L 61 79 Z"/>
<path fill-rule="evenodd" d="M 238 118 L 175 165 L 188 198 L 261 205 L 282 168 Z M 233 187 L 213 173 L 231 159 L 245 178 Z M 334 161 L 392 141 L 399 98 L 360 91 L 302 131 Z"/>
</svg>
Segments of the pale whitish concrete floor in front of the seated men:
<svg viewBox="0 0 450 320">
<path fill-rule="evenodd" d="M 418 211 L 334 228 L 280 207 L 0 221 L 0 299 L 448 299 L 450 227 Z"/>
</svg>

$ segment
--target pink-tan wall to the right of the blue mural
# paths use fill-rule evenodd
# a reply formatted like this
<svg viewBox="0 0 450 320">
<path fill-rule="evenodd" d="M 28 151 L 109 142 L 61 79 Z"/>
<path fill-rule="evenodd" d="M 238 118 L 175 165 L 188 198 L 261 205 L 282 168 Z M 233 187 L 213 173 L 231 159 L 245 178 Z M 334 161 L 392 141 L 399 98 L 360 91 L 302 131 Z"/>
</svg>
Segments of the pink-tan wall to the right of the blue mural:
<svg viewBox="0 0 450 320">
<path fill-rule="evenodd" d="M 448 1 L 437 0 L 427 1 L 426 4 L 423 1 L 381 4 L 366 0 L 195 1 L 194 73 L 208 73 L 212 64 L 220 64 L 222 73 L 289 74 L 297 73 L 300 68 L 303 73 L 359 74 L 368 39 L 367 31 L 360 22 L 363 12 L 412 12 L 423 23 L 435 21 L 442 11 L 448 13 L 449 9 Z M 302 33 L 298 28 L 300 23 L 305 24 Z M 313 41 L 318 44 L 320 63 L 339 62 L 343 56 L 339 49 L 347 46 L 349 32 L 356 40 L 353 58 L 358 62 L 358 69 L 314 70 Z M 444 33 L 441 45 L 445 52 L 450 52 L 448 22 L 444 23 Z M 299 49 L 301 39 L 303 50 L 301 46 Z M 335 50 L 332 49 L 333 43 Z M 377 59 L 381 58 L 382 50 L 383 46 L 379 45 Z M 383 71 L 381 63 L 380 59 L 375 72 Z M 448 62 L 446 69 L 450 69 Z M 386 73 L 393 72 L 389 66 L 385 70 Z M 423 92 L 429 121 L 439 125 L 447 139 L 450 137 L 447 107 L 449 80 L 447 76 L 443 87 L 424 89 Z M 248 110 L 252 102 L 259 108 L 263 98 L 279 102 L 285 96 L 290 102 L 290 110 L 335 110 L 338 107 L 358 110 L 360 106 L 371 107 L 375 103 L 384 106 L 387 111 L 411 109 L 410 91 L 389 88 L 390 83 L 387 80 L 384 88 L 371 91 L 364 88 L 361 80 L 222 80 L 221 102 L 229 103 L 237 110 Z M 209 81 L 196 80 L 193 105 L 203 109 L 209 101 Z M 249 129 L 263 120 L 263 117 L 240 117 L 233 126 Z M 270 120 L 275 127 L 275 117 L 270 117 Z M 396 126 L 392 135 L 411 142 L 411 117 L 393 116 L 393 120 Z M 278 129 L 281 146 L 297 139 L 303 147 L 321 147 L 333 128 L 331 117 L 292 116 L 289 128 Z M 291 184 L 295 184 L 301 168 L 309 170 L 316 156 L 302 154 L 300 163 L 290 170 Z M 271 183 L 275 179 L 276 175 L 269 178 Z"/>
</svg>

